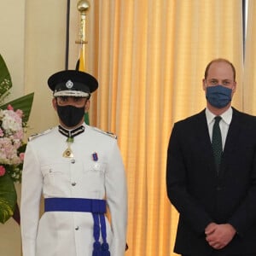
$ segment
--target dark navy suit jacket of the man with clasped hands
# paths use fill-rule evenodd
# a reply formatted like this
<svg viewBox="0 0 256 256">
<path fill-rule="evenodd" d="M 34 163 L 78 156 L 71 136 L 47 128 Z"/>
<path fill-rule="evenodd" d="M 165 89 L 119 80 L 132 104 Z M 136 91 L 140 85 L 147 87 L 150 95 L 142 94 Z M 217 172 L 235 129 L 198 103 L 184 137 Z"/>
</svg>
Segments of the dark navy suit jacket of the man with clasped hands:
<svg viewBox="0 0 256 256">
<path fill-rule="evenodd" d="M 207 224 L 229 223 L 236 236 L 221 253 L 256 253 L 256 117 L 233 108 L 217 172 L 205 110 L 172 129 L 166 168 L 167 195 L 179 222 L 174 251 L 207 255 Z"/>
</svg>

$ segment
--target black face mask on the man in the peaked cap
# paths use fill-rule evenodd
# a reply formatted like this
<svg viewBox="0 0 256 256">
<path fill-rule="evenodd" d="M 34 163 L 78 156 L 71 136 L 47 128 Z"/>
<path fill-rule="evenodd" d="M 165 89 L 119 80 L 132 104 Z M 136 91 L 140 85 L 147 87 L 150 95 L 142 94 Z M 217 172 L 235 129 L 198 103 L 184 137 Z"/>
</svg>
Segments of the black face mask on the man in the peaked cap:
<svg viewBox="0 0 256 256">
<path fill-rule="evenodd" d="M 67 127 L 73 127 L 78 125 L 79 122 L 84 118 L 84 107 L 76 108 L 71 105 L 57 105 L 57 113 L 64 125 Z"/>
</svg>

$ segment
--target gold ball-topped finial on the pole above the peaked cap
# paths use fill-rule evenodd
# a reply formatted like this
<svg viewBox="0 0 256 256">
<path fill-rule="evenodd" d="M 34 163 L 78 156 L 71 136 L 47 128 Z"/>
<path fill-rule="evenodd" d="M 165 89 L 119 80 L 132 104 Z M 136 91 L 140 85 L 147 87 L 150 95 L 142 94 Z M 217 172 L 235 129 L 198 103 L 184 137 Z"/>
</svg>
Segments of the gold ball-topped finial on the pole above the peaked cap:
<svg viewBox="0 0 256 256">
<path fill-rule="evenodd" d="M 79 40 L 76 41 L 76 44 L 87 44 L 85 41 L 85 18 L 86 12 L 90 8 L 90 3 L 87 0 L 80 0 L 77 3 L 77 8 L 80 12 L 80 26 L 79 26 Z"/>
</svg>

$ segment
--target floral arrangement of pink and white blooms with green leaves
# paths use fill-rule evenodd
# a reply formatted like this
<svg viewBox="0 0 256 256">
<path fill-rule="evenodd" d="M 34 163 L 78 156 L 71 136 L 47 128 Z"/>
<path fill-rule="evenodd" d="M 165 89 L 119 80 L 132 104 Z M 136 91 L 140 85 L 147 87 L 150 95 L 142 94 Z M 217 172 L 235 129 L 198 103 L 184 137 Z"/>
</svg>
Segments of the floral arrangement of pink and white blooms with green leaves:
<svg viewBox="0 0 256 256">
<path fill-rule="evenodd" d="M 0 55 L 0 102 L 12 86 Z M 15 183 L 21 183 L 26 143 L 23 141 L 32 108 L 33 93 L 0 106 L 0 222 L 14 218 L 20 224 Z"/>
</svg>

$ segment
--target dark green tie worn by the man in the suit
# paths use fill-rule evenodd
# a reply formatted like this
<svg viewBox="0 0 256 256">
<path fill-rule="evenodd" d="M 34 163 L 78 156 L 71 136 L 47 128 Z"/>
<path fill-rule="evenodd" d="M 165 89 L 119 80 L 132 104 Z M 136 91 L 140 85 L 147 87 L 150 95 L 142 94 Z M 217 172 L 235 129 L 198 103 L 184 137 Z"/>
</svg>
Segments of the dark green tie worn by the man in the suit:
<svg viewBox="0 0 256 256">
<path fill-rule="evenodd" d="M 215 157 L 215 163 L 218 170 L 221 154 L 222 154 L 222 139 L 221 139 L 221 132 L 219 128 L 219 121 L 221 120 L 220 116 L 216 116 L 215 122 L 212 129 L 212 149 L 213 154 Z"/>
</svg>

